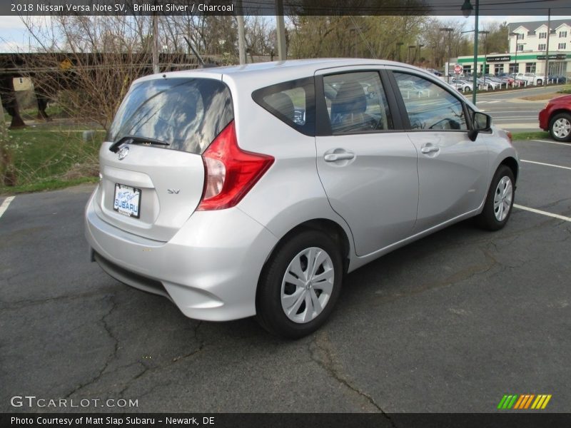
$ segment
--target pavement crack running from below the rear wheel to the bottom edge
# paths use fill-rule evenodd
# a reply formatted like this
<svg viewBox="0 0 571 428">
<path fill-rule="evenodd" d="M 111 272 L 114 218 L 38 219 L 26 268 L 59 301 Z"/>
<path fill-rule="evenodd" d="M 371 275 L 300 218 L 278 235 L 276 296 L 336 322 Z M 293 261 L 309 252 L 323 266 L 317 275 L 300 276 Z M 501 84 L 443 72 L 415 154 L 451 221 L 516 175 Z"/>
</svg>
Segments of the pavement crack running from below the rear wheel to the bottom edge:
<svg viewBox="0 0 571 428">
<path fill-rule="evenodd" d="M 371 397 L 364 391 L 361 391 L 358 387 L 355 387 L 348 379 L 346 379 L 346 375 L 343 374 L 343 370 L 341 369 L 338 362 L 335 362 L 335 358 L 333 357 L 333 350 L 331 349 L 332 345 L 328 338 L 326 332 L 318 332 L 315 335 L 315 340 L 309 343 L 309 354 L 311 360 L 317 363 L 323 370 L 328 372 L 333 379 L 337 382 L 342 384 L 344 387 L 350 389 L 350 391 L 355 392 L 358 394 L 359 397 L 363 398 L 368 402 L 372 407 L 375 408 L 377 412 L 383 414 L 383 416 L 388 419 L 390 422 L 391 427 L 395 427 L 395 423 L 390 416 L 383 410 L 380 405 L 375 402 L 375 399 Z"/>
</svg>

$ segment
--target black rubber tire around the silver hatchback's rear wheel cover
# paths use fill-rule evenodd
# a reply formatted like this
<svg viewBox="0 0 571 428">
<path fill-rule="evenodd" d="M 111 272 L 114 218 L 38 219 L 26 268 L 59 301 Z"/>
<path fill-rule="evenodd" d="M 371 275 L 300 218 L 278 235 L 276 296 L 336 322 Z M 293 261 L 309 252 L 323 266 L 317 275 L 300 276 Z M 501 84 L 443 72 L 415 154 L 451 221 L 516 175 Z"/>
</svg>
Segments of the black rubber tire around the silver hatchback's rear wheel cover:
<svg viewBox="0 0 571 428">
<path fill-rule="evenodd" d="M 290 263 L 294 263 L 296 259 L 303 261 L 304 255 L 300 254 L 303 253 L 303 251 L 308 251 L 310 248 L 318 248 L 328 255 L 328 260 L 323 262 L 323 265 L 318 265 L 319 269 L 316 270 L 316 272 L 322 270 L 321 272 L 323 273 L 325 268 L 328 269 L 328 272 L 329 269 L 333 269 L 333 279 L 330 280 L 330 282 L 333 283 L 333 287 L 330 293 L 327 293 L 319 289 L 319 284 L 323 284 L 323 282 L 316 282 L 313 285 L 306 284 L 306 287 L 314 287 L 313 293 L 318 299 L 323 297 L 323 299 L 327 300 L 325 300 L 323 310 L 313 317 L 312 320 L 308 320 L 307 322 L 294 322 L 290 319 L 290 316 L 303 317 L 304 314 L 317 313 L 316 310 L 310 312 L 310 309 L 305 306 L 305 300 L 301 303 L 299 309 L 294 310 L 290 316 L 286 315 L 282 305 L 282 285 L 284 285 L 283 292 L 285 296 L 293 296 L 296 292 L 299 292 L 300 296 L 305 293 L 303 295 L 308 295 L 311 299 L 311 290 L 307 288 L 303 289 L 303 287 L 299 285 L 285 281 L 286 270 L 288 270 Z M 305 259 L 307 260 L 307 258 Z M 303 271 L 303 263 L 300 263 L 300 266 Z M 308 270 L 309 266 L 307 265 L 304 273 L 308 272 Z M 290 272 L 292 271 L 290 270 Z M 339 245 L 323 232 L 318 230 L 304 230 L 287 238 L 281 245 L 278 245 L 278 248 L 274 250 L 273 255 L 271 255 L 271 258 L 266 263 L 260 277 L 260 282 L 258 283 L 256 319 L 262 327 L 274 335 L 288 339 L 298 339 L 310 335 L 323 325 L 333 311 L 333 307 L 341 291 L 342 281 L 343 260 L 341 258 Z M 301 282 L 303 282 L 303 278 Z M 302 297 L 296 300 L 301 299 Z M 311 308 L 313 308 L 313 305 Z M 298 313 L 298 311 L 301 312 Z"/>
</svg>

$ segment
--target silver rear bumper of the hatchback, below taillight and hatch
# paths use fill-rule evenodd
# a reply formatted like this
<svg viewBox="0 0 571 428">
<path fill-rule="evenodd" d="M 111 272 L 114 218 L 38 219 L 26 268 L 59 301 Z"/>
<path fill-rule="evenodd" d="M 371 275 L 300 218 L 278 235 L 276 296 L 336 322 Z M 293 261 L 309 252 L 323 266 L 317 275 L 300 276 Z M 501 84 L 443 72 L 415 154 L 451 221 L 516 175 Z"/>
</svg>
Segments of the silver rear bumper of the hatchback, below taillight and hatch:
<svg viewBox="0 0 571 428">
<path fill-rule="evenodd" d="M 85 233 L 109 275 L 171 299 L 187 317 L 227 321 L 256 315 L 256 287 L 277 239 L 238 208 L 197 211 L 167 243 L 141 238 L 96 215 Z"/>
</svg>

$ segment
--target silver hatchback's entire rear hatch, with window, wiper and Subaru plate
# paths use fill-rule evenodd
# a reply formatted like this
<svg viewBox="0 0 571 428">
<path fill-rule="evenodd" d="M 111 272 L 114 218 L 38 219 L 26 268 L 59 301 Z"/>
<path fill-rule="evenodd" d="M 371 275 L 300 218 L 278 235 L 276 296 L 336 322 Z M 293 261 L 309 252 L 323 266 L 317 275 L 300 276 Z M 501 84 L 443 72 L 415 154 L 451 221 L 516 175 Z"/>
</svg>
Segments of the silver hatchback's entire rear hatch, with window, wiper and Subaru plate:
<svg viewBox="0 0 571 428">
<path fill-rule="evenodd" d="M 133 83 L 99 153 L 98 216 L 144 238 L 172 238 L 201 201 L 201 154 L 232 119 L 221 80 Z"/>
</svg>

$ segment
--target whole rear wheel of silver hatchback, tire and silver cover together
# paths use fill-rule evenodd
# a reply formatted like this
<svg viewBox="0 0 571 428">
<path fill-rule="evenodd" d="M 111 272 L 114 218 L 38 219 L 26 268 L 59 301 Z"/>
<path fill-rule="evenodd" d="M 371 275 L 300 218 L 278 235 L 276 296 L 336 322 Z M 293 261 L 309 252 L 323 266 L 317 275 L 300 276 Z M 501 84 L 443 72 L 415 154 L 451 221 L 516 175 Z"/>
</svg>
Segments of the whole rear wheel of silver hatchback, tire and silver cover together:
<svg viewBox="0 0 571 428">
<path fill-rule="evenodd" d="M 343 263 L 338 245 L 318 230 L 285 240 L 261 275 L 257 319 L 273 334 L 296 339 L 317 330 L 338 299 Z"/>
</svg>

